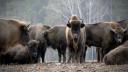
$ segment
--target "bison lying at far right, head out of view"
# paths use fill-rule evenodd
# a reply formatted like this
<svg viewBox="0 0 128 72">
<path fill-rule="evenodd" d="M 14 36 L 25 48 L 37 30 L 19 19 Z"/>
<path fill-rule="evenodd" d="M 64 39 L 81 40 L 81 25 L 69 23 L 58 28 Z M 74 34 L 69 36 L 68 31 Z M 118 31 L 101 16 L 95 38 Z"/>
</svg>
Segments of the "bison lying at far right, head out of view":
<svg viewBox="0 0 128 72">
<path fill-rule="evenodd" d="M 104 56 L 103 61 L 107 65 L 128 64 L 128 41 L 111 50 Z"/>
</svg>

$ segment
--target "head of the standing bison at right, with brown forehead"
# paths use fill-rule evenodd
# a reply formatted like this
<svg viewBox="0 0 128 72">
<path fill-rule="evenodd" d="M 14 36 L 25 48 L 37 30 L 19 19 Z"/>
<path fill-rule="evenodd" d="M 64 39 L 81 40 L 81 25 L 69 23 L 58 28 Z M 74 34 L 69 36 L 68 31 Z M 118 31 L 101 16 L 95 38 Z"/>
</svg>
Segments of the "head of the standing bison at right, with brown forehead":
<svg viewBox="0 0 128 72">
<path fill-rule="evenodd" d="M 118 23 L 111 23 L 111 33 L 117 43 L 121 43 L 127 29 L 122 28 Z"/>
</svg>

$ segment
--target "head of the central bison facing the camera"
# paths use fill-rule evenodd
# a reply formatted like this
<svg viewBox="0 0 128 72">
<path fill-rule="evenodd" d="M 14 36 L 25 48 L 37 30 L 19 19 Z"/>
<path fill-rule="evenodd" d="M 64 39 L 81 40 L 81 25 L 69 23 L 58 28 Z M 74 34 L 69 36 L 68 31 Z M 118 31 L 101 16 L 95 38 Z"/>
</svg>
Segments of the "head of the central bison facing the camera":
<svg viewBox="0 0 128 72">
<path fill-rule="evenodd" d="M 71 33 L 72 33 L 72 37 L 74 42 L 77 42 L 80 36 L 80 30 L 81 28 L 83 28 L 85 25 L 83 23 L 83 21 L 81 21 L 80 19 L 78 19 L 76 16 L 72 16 L 68 23 L 67 23 L 67 27 L 71 28 Z"/>
</svg>

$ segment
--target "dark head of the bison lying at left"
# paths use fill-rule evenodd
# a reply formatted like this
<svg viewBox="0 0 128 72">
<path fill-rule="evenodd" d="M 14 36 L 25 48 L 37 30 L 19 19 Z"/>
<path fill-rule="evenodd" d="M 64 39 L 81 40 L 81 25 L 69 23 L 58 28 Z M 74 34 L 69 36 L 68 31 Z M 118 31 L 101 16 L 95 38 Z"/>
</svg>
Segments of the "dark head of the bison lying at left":
<svg viewBox="0 0 128 72">
<path fill-rule="evenodd" d="M 29 50 L 29 54 L 32 57 L 32 60 L 36 60 L 37 59 L 37 54 L 38 54 L 38 44 L 39 41 L 36 40 L 30 40 L 28 42 L 28 50 Z"/>
</svg>

